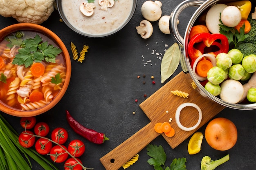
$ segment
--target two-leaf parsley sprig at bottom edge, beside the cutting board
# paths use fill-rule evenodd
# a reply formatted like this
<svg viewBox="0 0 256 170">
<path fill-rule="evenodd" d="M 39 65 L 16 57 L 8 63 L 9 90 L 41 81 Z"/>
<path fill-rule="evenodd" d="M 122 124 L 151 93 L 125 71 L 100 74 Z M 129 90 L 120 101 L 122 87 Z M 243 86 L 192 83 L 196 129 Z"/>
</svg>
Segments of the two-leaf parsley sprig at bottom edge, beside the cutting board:
<svg viewBox="0 0 256 170">
<path fill-rule="evenodd" d="M 170 167 L 165 166 L 166 153 L 161 145 L 148 144 L 146 150 L 148 151 L 147 155 L 151 157 L 147 162 L 153 165 L 155 170 L 186 170 L 186 158 L 175 158 Z"/>
</svg>

